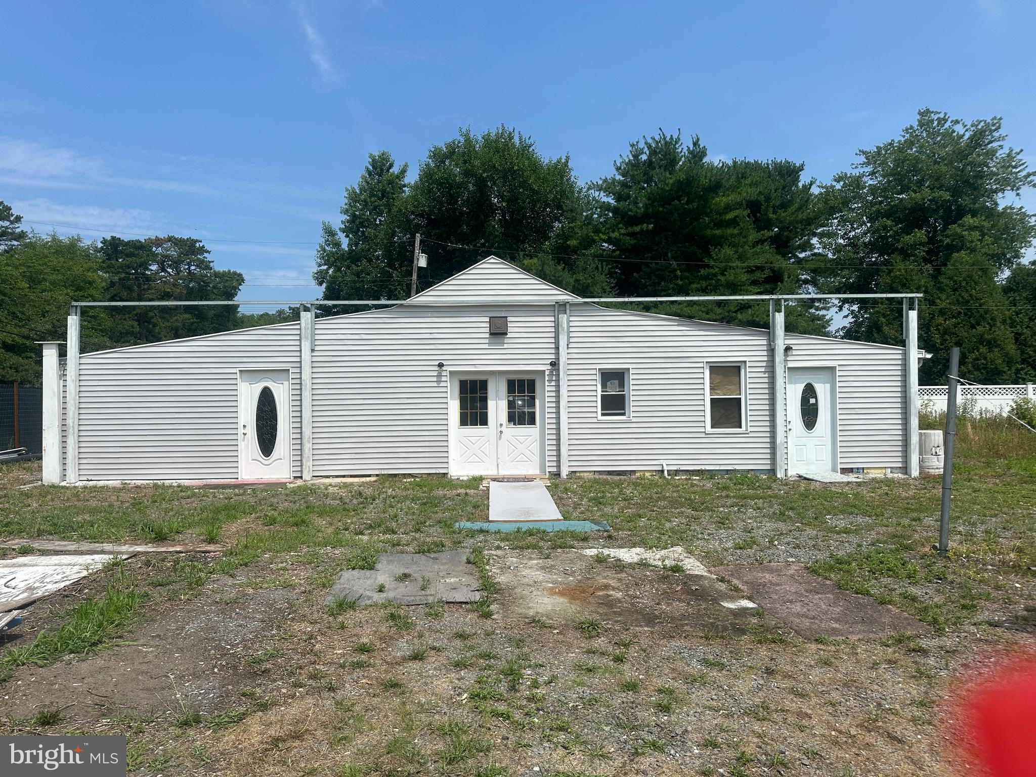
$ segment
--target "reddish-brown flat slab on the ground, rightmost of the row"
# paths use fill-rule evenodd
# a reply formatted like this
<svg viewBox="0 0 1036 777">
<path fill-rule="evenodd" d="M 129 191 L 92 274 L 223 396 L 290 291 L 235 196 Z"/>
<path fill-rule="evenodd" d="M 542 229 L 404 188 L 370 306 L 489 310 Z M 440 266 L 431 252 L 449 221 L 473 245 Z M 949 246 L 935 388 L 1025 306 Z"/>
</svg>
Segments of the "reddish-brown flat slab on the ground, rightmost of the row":
<svg viewBox="0 0 1036 777">
<path fill-rule="evenodd" d="M 740 584 L 768 615 L 806 639 L 882 638 L 900 631 L 931 631 L 904 612 L 839 588 L 801 564 L 739 565 L 717 567 L 713 572 Z"/>
</svg>

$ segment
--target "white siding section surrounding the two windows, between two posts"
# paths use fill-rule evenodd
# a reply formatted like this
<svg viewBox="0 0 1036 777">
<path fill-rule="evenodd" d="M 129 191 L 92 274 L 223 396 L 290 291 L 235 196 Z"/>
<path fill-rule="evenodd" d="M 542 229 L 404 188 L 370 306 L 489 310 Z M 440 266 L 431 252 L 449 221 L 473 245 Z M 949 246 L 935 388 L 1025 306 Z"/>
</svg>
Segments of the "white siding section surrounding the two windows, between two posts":
<svg viewBox="0 0 1036 777">
<path fill-rule="evenodd" d="M 704 365 L 748 367 L 748 431 L 706 432 Z M 629 368 L 630 419 L 598 419 L 598 368 Z M 569 468 L 772 469 L 769 333 L 572 306 Z"/>
</svg>

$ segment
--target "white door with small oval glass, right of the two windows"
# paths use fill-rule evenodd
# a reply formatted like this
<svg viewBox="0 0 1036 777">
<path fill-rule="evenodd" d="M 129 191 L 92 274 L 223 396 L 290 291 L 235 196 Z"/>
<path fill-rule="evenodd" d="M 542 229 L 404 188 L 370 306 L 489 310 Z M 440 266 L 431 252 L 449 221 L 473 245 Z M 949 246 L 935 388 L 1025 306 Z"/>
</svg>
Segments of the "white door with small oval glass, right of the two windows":
<svg viewBox="0 0 1036 777">
<path fill-rule="evenodd" d="M 788 368 L 788 474 L 838 471 L 837 396 L 833 367 Z"/>
</svg>

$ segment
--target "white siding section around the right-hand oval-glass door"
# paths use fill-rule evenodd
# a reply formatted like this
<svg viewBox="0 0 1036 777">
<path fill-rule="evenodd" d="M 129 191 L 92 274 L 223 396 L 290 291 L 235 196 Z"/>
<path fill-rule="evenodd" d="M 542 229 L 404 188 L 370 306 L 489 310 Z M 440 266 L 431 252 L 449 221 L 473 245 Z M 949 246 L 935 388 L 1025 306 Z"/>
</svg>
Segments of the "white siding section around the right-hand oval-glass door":
<svg viewBox="0 0 1036 777">
<path fill-rule="evenodd" d="M 839 466 L 904 466 L 904 349 L 804 335 L 785 335 L 784 343 L 789 368 L 837 368 Z"/>
</svg>

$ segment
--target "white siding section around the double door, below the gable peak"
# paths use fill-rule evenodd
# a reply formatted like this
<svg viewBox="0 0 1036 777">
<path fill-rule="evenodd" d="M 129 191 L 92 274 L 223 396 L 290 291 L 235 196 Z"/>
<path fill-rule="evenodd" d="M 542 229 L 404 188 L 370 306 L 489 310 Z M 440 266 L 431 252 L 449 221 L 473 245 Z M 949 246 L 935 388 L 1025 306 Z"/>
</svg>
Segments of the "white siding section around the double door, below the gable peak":
<svg viewBox="0 0 1036 777">
<path fill-rule="evenodd" d="M 509 317 L 507 336 L 489 316 Z M 449 372 L 547 372 L 547 465 L 556 466 L 554 308 L 415 304 L 317 319 L 313 473 L 448 472 Z M 445 369 L 439 372 L 436 365 Z"/>
</svg>

